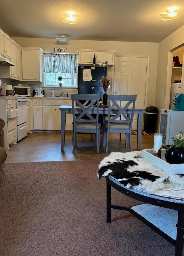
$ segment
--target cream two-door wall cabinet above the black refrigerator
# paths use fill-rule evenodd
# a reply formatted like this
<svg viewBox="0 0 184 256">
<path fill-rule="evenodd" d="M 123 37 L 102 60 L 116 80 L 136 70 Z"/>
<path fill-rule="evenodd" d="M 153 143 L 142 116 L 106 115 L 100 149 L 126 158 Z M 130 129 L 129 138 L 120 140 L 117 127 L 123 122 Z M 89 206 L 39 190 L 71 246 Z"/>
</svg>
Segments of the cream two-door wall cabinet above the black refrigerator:
<svg viewBox="0 0 184 256">
<path fill-rule="evenodd" d="M 97 65 L 108 61 L 108 65 L 114 65 L 114 53 L 112 50 L 84 50 L 78 49 L 78 63 L 79 64 L 93 64 L 93 57 L 95 53 L 95 59 Z"/>
</svg>

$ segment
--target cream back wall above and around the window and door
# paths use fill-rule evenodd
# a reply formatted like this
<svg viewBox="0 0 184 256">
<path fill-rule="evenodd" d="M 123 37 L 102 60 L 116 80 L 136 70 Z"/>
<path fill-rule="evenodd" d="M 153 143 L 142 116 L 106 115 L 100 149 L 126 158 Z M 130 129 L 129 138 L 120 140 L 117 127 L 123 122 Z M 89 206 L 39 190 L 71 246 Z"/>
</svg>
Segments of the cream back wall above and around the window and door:
<svg viewBox="0 0 184 256">
<path fill-rule="evenodd" d="M 60 45 L 56 39 L 20 37 L 12 37 L 12 39 L 22 47 L 40 47 L 44 52 L 54 52 L 54 48 Z M 62 43 L 62 45 L 67 48 L 68 53 L 76 53 L 77 49 L 94 49 L 116 50 L 116 54 L 120 55 L 149 55 L 150 67 L 146 106 L 155 106 L 158 43 L 70 40 L 67 44 Z M 107 76 L 110 80 L 112 80 L 111 76 L 113 75 L 112 67 L 108 67 Z"/>
</svg>

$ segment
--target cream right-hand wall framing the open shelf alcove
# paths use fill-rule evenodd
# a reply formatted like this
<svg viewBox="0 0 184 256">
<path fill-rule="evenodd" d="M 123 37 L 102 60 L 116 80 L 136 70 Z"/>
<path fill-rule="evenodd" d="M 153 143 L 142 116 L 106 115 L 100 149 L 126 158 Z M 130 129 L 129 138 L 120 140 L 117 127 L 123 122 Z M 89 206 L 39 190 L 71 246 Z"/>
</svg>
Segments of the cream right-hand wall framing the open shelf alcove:
<svg viewBox="0 0 184 256">
<path fill-rule="evenodd" d="M 155 105 L 158 107 L 159 110 L 169 108 L 173 51 L 179 47 L 182 47 L 183 44 L 184 26 L 177 29 L 175 32 L 173 32 L 171 35 L 169 35 L 159 43 L 155 99 Z"/>
</svg>

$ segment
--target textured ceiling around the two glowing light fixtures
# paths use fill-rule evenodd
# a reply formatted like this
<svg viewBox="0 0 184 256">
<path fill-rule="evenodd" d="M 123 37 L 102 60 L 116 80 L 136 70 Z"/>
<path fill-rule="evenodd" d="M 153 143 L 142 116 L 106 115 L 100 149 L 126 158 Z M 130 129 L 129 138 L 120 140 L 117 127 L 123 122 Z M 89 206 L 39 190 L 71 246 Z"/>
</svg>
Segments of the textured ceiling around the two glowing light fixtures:
<svg viewBox="0 0 184 256">
<path fill-rule="evenodd" d="M 178 7 L 179 19 L 159 14 Z M 0 28 L 10 37 L 160 42 L 184 25 L 183 0 L 1 0 Z M 68 11 L 80 21 L 62 22 Z"/>
</svg>

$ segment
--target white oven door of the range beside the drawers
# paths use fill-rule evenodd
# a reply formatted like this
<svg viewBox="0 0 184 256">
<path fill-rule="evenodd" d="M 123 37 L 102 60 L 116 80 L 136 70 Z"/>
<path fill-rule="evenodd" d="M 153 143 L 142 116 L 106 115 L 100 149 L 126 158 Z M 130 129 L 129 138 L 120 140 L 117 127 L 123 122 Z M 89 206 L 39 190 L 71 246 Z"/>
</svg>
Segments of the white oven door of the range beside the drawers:
<svg viewBox="0 0 184 256">
<path fill-rule="evenodd" d="M 27 100 L 17 99 L 18 117 L 17 125 L 21 125 L 27 122 Z"/>
</svg>

